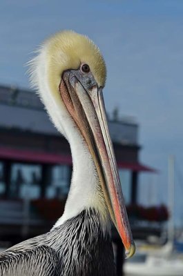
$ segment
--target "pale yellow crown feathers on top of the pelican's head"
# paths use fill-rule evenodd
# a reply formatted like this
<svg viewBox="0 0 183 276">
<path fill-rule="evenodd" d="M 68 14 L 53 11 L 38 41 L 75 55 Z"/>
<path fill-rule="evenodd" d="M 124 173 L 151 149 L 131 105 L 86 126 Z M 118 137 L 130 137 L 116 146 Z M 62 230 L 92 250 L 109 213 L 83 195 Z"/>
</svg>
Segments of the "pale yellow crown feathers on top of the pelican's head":
<svg viewBox="0 0 183 276">
<path fill-rule="evenodd" d="M 98 86 L 104 87 L 106 65 L 99 48 L 88 37 L 73 31 L 58 32 L 46 41 L 48 80 L 52 88 L 58 88 L 62 72 L 77 69 L 87 63 Z"/>
</svg>

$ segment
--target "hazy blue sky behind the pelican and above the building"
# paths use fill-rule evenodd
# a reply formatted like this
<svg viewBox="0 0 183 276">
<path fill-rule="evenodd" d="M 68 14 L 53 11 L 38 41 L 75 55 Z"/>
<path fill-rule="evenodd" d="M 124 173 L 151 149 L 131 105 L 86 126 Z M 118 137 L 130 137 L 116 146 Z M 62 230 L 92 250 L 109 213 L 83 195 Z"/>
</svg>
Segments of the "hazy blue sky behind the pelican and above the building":
<svg viewBox="0 0 183 276">
<path fill-rule="evenodd" d="M 97 43 L 108 68 L 107 110 L 117 106 L 120 115 L 139 122 L 140 159 L 160 170 L 141 178 L 139 200 L 166 201 L 167 158 L 173 154 L 176 212 L 183 217 L 183 1 L 1 0 L 0 83 L 27 88 L 25 63 L 32 51 L 63 29 Z"/>
</svg>

